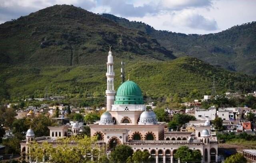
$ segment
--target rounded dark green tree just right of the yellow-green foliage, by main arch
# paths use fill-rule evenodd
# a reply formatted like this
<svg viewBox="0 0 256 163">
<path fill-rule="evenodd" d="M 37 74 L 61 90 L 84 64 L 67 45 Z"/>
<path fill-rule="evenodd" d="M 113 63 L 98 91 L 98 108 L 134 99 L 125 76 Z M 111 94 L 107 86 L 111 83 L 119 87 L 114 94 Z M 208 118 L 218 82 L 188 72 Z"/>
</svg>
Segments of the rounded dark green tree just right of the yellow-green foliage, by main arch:
<svg viewBox="0 0 256 163">
<path fill-rule="evenodd" d="M 132 156 L 132 147 L 128 145 L 118 145 L 114 151 L 110 153 L 110 162 L 125 163 L 129 156 Z"/>
</svg>

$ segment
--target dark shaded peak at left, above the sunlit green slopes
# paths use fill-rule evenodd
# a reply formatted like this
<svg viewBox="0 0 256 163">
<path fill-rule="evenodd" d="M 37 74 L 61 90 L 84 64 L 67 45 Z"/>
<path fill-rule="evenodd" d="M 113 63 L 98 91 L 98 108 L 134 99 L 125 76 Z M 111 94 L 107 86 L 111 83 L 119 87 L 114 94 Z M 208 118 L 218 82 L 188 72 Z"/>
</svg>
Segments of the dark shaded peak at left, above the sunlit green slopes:
<svg viewBox="0 0 256 163">
<path fill-rule="evenodd" d="M 109 45 L 120 59 L 176 58 L 144 32 L 69 5 L 48 7 L 0 25 L 2 64 L 102 64 Z"/>
</svg>

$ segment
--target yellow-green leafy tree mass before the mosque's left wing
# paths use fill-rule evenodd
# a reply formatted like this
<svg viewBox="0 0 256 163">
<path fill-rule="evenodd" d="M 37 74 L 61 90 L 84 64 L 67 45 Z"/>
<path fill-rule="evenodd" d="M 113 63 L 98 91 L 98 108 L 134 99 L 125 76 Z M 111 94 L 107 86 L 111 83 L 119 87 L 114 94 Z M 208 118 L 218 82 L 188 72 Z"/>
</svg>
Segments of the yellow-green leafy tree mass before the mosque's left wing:
<svg viewBox="0 0 256 163">
<path fill-rule="evenodd" d="M 98 145 L 94 144 L 96 139 L 87 136 L 72 136 L 65 139 L 57 139 L 57 142 L 61 142 L 56 147 L 52 144 L 44 142 L 42 145 L 34 142 L 29 145 L 29 157 L 32 161 L 41 162 L 43 157 L 51 157 L 47 160 L 49 163 L 91 163 L 90 157 L 84 157 L 88 153 L 93 156 L 99 156 L 101 149 Z M 76 145 L 70 145 L 70 143 L 76 143 Z"/>
</svg>

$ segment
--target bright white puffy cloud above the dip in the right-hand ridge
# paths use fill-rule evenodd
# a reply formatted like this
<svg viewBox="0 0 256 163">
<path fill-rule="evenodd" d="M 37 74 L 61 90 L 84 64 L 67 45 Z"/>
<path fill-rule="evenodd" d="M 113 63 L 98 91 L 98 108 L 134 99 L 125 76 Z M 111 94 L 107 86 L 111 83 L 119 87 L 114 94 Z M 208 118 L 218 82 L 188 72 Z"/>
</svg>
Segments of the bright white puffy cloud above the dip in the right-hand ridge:
<svg viewBox="0 0 256 163">
<path fill-rule="evenodd" d="M 195 10 L 182 10 L 172 15 L 170 22 L 164 22 L 163 25 L 183 26 L 192 29 L 203 29 L 206 31 L 214 31 L 218 29 L 217 22 L 213 18 L 207 18 L 198 14 Z"/>
</svg>

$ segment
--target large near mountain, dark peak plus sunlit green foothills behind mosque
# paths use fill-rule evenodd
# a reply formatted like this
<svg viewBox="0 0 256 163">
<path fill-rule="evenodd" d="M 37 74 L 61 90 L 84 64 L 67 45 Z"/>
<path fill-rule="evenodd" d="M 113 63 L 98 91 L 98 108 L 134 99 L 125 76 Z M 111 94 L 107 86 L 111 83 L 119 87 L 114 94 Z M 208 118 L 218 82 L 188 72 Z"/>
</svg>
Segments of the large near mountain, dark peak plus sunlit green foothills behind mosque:
<svg viewBox="0 0 256 163">
<path fill-rule="evenodd" d="M 121 81 L 119 63 L 125 61 L 126 75 L 146 96 L 189 96 L 194 90 L 203 95 L 211 91 L 213 80 L 218 92 L 256 89 L 256 78 L 250 75 L 194 57 L 176 59 L 149 31 L 74 6 L 55 5 L 0 25 L 0 101 L 39 98 L 46 90 L 68 99 L 104 96 L 109 45 L 116 88 Z"/>
</svg>

